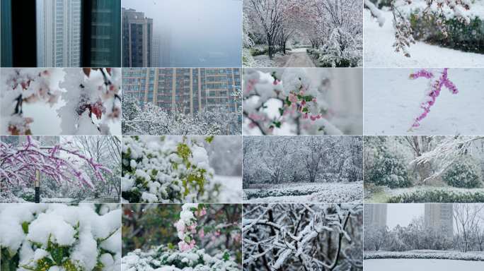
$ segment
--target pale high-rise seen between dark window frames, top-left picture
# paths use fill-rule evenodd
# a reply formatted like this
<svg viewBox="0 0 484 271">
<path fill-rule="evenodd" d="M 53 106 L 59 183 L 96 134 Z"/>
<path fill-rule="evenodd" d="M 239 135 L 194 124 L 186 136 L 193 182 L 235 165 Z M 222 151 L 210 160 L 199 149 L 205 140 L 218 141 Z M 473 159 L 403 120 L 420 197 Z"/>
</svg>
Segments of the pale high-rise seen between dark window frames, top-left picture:
<svg viewBox="0 0 484 271">
<path fill-rule="evenodd" d="M 42 30 L 38 37 L 38 66 L 81 65 L 81 0 L 43 0 L 38 9 Z"/>
</svg>

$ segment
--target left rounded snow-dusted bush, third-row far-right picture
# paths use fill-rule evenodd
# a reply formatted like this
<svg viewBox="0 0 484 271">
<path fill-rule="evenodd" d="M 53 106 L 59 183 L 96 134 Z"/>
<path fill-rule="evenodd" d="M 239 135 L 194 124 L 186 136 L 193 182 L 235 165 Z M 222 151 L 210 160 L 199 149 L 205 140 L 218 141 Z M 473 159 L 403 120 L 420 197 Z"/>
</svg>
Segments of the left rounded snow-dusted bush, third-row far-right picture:
<svg viewBox="0 0 484 271">
<path fill-rule="evenodd" d="M 403 157 L 391 152 L 384 152 L 375 160 L 369 176 L 365 176 L 365 181 L 389 188 L 413 186 L 410 166 Z"/>
</svg>

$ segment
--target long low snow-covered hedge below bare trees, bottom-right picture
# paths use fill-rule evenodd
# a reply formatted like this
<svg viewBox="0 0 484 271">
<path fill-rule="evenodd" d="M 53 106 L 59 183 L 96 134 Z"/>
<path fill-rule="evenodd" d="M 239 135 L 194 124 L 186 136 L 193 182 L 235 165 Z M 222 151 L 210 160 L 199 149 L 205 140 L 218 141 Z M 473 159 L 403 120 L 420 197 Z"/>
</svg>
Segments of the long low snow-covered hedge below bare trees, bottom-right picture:
<svg viewBox="0 0 484 271">
<path fill-rule="evenodd" d="M 469 251 L 364 251 L 364 260 L 369 259 L 445 259 L 445 260 L 475 260 L 484 261 L 484 252 Z M 366 262 L 365 262 L 366 263 Z"/>
</svg>

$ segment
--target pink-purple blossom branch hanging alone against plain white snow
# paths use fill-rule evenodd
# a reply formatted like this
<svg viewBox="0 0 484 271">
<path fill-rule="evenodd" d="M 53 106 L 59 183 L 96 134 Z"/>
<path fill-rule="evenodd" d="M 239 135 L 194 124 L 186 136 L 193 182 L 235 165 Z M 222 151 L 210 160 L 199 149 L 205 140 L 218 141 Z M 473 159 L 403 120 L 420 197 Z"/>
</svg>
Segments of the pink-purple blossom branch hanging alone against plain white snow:
<svg viewBox="0 0 484 271">
<path fill-rule="evenodd" d="M 419 121 L 425 119 L 427 114 L 430 112 L 430 107 L 434 105 L 435 98 L 439 96 L 440 90 L 442 90 L 443 86 L 445 86 L 452 94 L 459 93 L 459 90 L 457 90 L 454 83 L 447 78 L 448 69 L 449 68 L 424 68 L 420 71 L 410 74 L 408 78 L 410 80 L 424 77 L 429 79 L 429 81 L 427 83 L 427 90 L 424 92 L 424 98 L 420 101 L 420 108 L 417 112 L 417 116 L 413 121 L 412 127 L 408 129 L 408 132 L 413 132 L 412 128 L 420 126 Z"/>
</svg>

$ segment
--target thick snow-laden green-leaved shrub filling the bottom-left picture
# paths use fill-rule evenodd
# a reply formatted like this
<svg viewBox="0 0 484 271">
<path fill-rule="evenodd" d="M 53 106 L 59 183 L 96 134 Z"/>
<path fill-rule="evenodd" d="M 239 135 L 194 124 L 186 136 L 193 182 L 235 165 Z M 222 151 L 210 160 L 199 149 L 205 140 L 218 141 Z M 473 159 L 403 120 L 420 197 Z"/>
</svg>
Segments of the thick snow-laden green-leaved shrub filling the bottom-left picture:
<svg viewBox="0 0 484 271">
<path fill-rule="evenodd" d="M 120 270 L 119 207 L 2 206 L 2 270 Z"/>
</svg>

